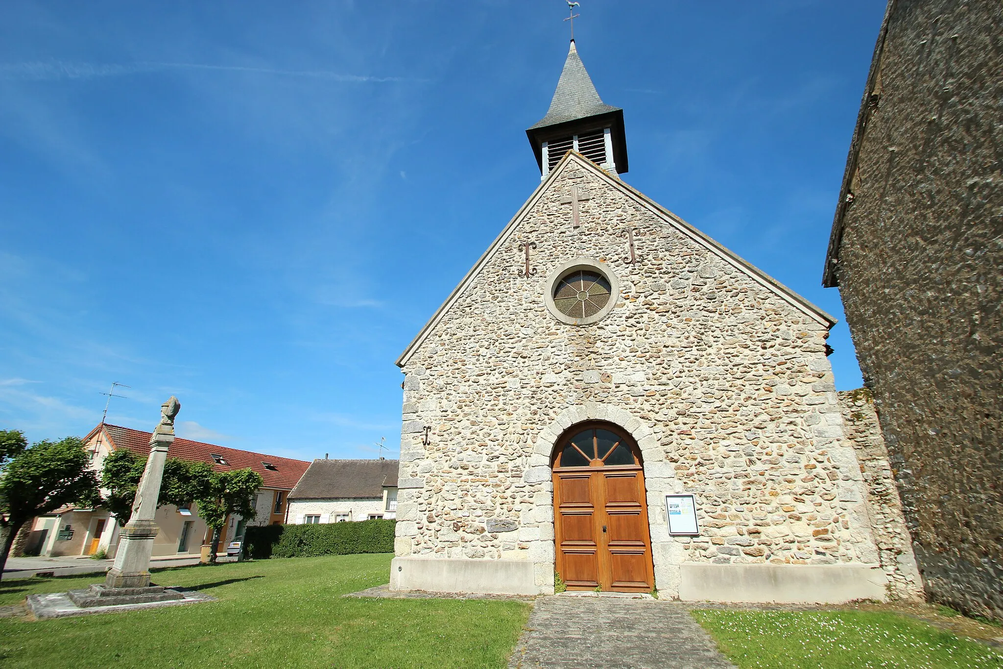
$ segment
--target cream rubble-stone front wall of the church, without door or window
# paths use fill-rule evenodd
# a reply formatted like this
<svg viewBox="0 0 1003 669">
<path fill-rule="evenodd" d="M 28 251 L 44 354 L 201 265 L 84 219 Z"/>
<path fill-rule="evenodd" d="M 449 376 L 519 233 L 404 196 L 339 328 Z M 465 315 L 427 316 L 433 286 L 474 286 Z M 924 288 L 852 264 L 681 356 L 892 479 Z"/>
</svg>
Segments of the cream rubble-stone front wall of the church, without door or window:
<svg viewBox="0 0 1003 669">
<path fill-rule="evenodd" d="M 572 186 L 589 196 L 578 229 L 562 204 Z M 537 245 L 529 277 L 520 276 L 525 242 Z M 559 322 L 545 304 L 548 275 L 576 259 L 619 279 L 612 311 L 587 326 Z M 435 583 L 552 593 L 551 451 L 569 426 L 603 419 L 643 453 L 660 596 L 884 599 L 896 570 L 881 569 L 845 438 L 825 357 L 832 322 L 569 153 L 398 361 L 391 588 L 432 589 L 420 578 L 429 569 L 473 570 L 472 580 Z M 678 492 L 696 494 L 699 537 L 668 534 L 664 497 Z"/>
</svg>

